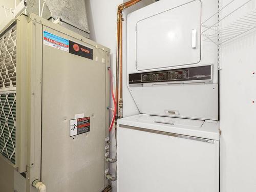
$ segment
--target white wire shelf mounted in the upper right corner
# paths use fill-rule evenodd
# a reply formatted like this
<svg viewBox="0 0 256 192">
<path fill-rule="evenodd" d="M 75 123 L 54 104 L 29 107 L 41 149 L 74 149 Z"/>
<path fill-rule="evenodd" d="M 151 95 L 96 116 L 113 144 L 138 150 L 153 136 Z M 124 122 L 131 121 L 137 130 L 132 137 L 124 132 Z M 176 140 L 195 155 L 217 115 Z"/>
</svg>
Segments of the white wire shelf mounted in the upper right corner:
<svg viewBox="0 0 256 192">
<path fill-rule="evenodd" d="M 233 8 L 234 2 L 239 3 L 240 0 L 232 0 L 205 20 L 201 25 L 203 40 L 214 42 L 219 46 L 256 28 L 256 0 L 249 0 L 237 8 Z M 224 15 L 219 22 L 213 25 L 207 24 L 219 13 Z"/>
</svg>

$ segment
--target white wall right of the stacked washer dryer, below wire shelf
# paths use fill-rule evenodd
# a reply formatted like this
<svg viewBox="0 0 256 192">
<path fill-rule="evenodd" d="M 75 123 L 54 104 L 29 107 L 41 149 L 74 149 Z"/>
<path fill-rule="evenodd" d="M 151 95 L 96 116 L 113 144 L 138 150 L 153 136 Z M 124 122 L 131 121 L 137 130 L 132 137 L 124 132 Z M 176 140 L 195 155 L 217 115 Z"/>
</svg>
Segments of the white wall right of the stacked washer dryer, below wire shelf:
<svg viewBox="0 0 256 192">
<path fill-rule="evenodd" d="M 245 2 L 234 2 L 223 16 Z M 221 53 L 221 192 L 256 191 L 256 31 L 221 46 Z"/>
</svg>

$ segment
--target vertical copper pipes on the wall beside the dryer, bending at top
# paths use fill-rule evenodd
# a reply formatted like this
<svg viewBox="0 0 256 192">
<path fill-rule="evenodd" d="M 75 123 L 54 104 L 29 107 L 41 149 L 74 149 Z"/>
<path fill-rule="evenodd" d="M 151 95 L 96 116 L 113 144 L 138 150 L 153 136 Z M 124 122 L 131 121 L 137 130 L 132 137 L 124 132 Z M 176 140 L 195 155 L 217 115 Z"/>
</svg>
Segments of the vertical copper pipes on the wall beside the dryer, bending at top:
<svg viewBox="0 0 256 192">
<path fill-rule="evenodd" d="M 115 129 L 116 129 L 116 121 L 117 118 L 122 118 L 123 117 L 123 79 L 122 79 L 122 70 L 123 70 L 123 62 L 122 62 L 122 57 L 123 57 L 123 52 L 122 52 L 122 45 L 123 45 L 123 35 L 122 35 L 122 23 L 123 23 L 123 10 L 126 8 L 129 8 L 141 0 L 131 0 L 129 2 L 123 3 L 118 6 L 117 9 L 117 74 L 116 74 L 116 119 L 115 119 Z M 119 86 L 118 86 L 119 84 Z M 119 112 L 119 114 L 118 114 Z"/>
</svg>

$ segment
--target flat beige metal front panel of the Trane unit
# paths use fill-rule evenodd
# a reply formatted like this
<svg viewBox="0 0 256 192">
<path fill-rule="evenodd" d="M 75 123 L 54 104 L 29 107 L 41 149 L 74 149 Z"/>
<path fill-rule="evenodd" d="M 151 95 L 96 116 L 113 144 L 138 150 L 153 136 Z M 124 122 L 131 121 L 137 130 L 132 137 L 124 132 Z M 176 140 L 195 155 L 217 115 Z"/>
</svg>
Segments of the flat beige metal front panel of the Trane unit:
<svg viewBox="0 0 256 192">
<path fill-rule="evenodd" d="M 51 28 L 44 31 L 64 38 L 59 41 L 64 46 L 43 43 L 41 181 L 48 191 L 101 191 L 106 120 L 106 65 L 102 61 L 106 54 Z M 75 54 L 69 53 L 65 39 L 74 42 L 69 45 Z M 85 47 L 90 53 L 80 52 Z M 83 127 L 86 133 L 78 131 L 81 134 L 70 137 L 70 120 L 80 117 L 90 118 Z"/>
</svg>

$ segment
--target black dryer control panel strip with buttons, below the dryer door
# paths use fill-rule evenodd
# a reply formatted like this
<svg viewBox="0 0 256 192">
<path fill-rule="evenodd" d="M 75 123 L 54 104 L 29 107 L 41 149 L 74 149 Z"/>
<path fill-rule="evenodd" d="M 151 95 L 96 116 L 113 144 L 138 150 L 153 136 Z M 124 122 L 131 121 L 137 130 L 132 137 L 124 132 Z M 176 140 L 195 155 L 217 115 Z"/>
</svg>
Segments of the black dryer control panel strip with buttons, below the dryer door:
<svg viewBox="0 0 256 192">
<path fill-rule="evenodd" d="M 211 80 L 211 65 L 129 74 L 129 84 L 165 81 Z"/>
</svg>

